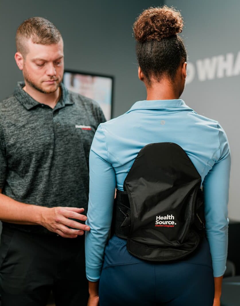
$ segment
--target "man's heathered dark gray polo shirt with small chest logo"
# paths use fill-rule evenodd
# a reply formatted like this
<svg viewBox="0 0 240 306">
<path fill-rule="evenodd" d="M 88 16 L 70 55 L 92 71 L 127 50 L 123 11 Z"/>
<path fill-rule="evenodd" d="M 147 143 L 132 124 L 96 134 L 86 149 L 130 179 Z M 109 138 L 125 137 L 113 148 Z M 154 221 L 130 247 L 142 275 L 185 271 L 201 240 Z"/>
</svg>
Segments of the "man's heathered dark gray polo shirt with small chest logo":
<svg viewBox="0 0 240 306">
<path fill-rule="evenodd" d="M 105 117 L 96 102 L 62 84 L 54 109 L 18 83 L 0 103 L 0 188 L 14 200 L 87 211 L 89 151 Z"/>
</svg>

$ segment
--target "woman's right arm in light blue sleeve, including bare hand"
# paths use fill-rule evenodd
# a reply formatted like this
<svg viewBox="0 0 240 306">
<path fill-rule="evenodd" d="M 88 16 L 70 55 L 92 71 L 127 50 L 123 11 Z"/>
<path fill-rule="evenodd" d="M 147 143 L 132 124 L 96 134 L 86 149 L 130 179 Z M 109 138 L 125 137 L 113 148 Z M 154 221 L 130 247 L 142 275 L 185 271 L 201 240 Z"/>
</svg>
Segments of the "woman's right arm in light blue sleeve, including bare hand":
<svg viewBox="0 0 240 306">
<path fill-rule="evenodd" d="M 219 127 L 219 159 L 203 182 L 205 201 L 206 235 L 212 255 L 215 282 L 215 304 L 220 305 L 222 276 L 227 260 L 228 218 L 227 203 L 231 156 L 227 136 Z"/>
</svg>

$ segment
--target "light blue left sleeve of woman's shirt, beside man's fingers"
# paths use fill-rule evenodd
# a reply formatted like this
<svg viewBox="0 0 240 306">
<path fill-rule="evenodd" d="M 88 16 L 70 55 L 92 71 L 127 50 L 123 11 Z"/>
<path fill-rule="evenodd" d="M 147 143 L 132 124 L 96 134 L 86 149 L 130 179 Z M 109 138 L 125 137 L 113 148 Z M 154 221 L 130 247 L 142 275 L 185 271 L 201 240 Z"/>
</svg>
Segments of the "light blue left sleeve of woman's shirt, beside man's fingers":
<svg viewBox="0 0 240 306">
<path fill-rule="evenodd" d="M 100 278 L 104 249 L 109 237 L 116 186 L 115 170 L 109 162 L 109 152 L 102 125 L 99 125 L 89 156 L 89 202 L 85 239 L 86 274 L 90 282 Z"/>
</svg>

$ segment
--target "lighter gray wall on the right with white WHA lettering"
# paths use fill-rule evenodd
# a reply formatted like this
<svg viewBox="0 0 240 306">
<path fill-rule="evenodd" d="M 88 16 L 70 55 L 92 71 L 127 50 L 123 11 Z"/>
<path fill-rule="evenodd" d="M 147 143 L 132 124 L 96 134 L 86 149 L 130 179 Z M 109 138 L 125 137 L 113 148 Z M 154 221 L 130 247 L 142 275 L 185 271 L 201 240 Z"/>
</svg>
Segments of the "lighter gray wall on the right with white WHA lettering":
<svg viewBox="0 0 240 306">
<path fill-rule="evenodd" d="M 227 133 L 232 153 L 229 217 L 240 220 L 240 2 L 167 0 L 165 3 L 181 10 L 185 21 L 182 34 L 191 67 L 182 98 L 199 114 L 219 121 Z"/>
</svg>

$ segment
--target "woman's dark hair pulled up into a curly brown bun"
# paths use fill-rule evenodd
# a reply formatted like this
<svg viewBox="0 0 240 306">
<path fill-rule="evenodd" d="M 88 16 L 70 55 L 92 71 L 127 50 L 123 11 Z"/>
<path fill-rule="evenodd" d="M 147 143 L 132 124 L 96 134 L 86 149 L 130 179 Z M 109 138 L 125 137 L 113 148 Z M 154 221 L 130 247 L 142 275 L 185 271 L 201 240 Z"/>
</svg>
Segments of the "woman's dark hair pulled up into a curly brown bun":
<svg viewBox="0 0 240 306">
<path fill-rule="evenodd" d="M 163 75 L 175 78 L 181 62 L 187 58 L 182 38 L 183 17 L 174 8 L 164 5 L 142 12 L 133 25 L 137 41 L 137 58 L 142 72 L 151 84 Z"/>
</svg>

